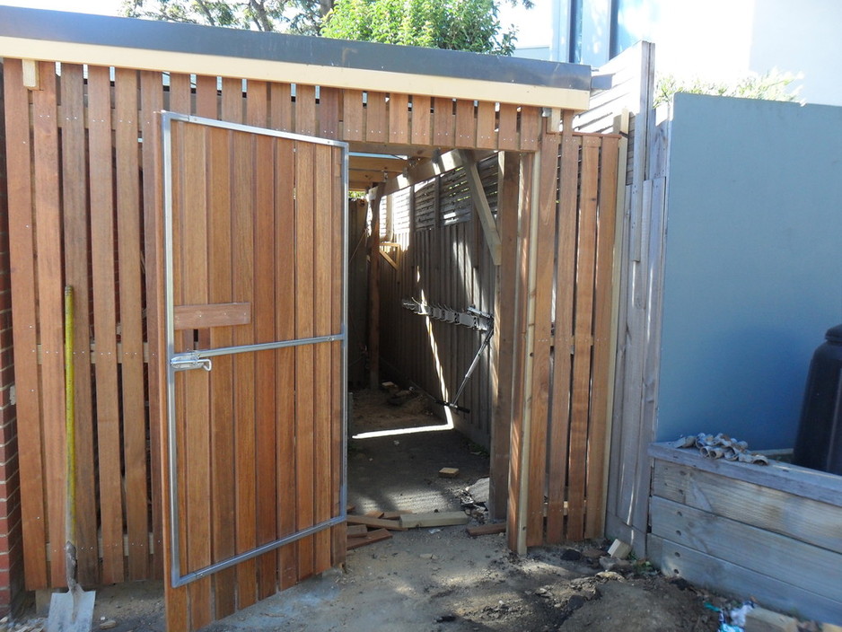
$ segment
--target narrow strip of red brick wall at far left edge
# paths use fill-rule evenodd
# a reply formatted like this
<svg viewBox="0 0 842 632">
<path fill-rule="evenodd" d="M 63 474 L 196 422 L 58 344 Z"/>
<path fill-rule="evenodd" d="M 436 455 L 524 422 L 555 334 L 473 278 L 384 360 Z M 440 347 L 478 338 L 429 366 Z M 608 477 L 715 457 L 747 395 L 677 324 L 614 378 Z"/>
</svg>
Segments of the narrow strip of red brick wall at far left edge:
<svg viewBox="0 0 842 632">
<path fill-rule="evenodd" d="M 0 65 L 0 616 L 23 595 L 21 494 L 13 404 L 12 288 L 6 197 L 3 66 Z"/>
</svg>

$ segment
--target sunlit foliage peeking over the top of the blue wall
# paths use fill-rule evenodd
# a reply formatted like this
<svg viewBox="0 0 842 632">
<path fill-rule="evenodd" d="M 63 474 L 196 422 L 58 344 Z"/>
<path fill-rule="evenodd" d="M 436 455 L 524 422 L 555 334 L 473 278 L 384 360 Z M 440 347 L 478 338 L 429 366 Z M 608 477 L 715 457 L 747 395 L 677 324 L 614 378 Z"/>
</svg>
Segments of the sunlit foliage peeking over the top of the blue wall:
<svg viewBox="0 0 842 632">
<path fill-rule="evenodd" d="M 654 105 L 657 107 L 669 103 L 676 92 L 765 101 L 795 101 L 798 98 L 798 90 L 793 90 L 791 84 L 798 78 L 798 75 L 780 73 L 777 70 L 770 70 L 765 75 L 748 75 L 732 83 L 663 75 L 659 77 L 655 87 Z"/>
</svg>

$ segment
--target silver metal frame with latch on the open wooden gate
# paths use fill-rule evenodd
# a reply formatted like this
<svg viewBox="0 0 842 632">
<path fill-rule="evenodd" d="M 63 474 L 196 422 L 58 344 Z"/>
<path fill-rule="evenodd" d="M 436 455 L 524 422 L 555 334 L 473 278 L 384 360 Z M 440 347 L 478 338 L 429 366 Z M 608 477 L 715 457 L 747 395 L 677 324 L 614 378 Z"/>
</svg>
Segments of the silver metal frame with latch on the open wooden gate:
<svg viewBox="0 0 842 632">
<path fill-rule="evenodd" d="M 340 147 L 342 150 L 342 173 L 344 182 L 343 199 L 348 198 L 348 144 L 342 141 L 331 140 L 328 138 L 319 138 L 316 136 L 303 136 L 301 134 L 292 134 L 288 132 L 279 132 L 265 127 L 252 127 L 242 125 L 240 123 L 230 123 L 220 121 L 213 118 L 202 118 L 187 114 L 178 114 L 175 112 L 162 111 L 161 112 L 161 126 L 162 126 L 162 148 L 163 148 L 163 209 L 164 209 L 164 332 L 166 344 L 166 366 L 167 366 L 167 434 L 169 441 L 167 442 L 167 473 L 169 477 L 169 508 L 170 508 L 170 538 L 171 538 L 171 586 L 178 588 L 180 586 L 190 584 L 191 582 L 201 579 L 207 575 L 211 575 L 224 568 L 229 568 L 252 559 L 259 557 L 271 550 L 279 549 L 285 544 L 301 540 L 307 536 L 312 535 L 318 531 L 324 531 L 330 527 L 337 526 L 346 521 L 346 507 L 347 507 L 347 253 L 348 253 L 348 212 L 347 203 L 343 205 L 342 213 L 342 324 L 341 330 L 338 333 L 329 336 L 321 336 L 318 338 L 296 338 L 293 340 L 278 340 L 276 342 L 259 343 L 253 345 L 246 345 L 240 347 L 219 347 L 215 349 L 202 349 L 188 353 L 175 353 L 175 319 L 174 319 L 174 290 L 173 290 L 173 238 L 172 238 L 172 152 L 171 152 L 171 124 L 172 121 L 183 121 L 185 123 L 194 123 L 197 125 L 205 125 L 207 127 L 220 127 L 230 129 L 232 131 L 246 132 L 250 134 L 260 134 L 263 136 L 276 136 L 278 138 L 286 138 L 289 140 L 304 141 L 316 145 L 331 145 Z M 301 347 L 305 345 L 315 345 L 329 342 L 341 342 L 342 347 L 342 366 L 341 366 L 341 417 L 342 417 L 342 437 L 341 437 L 341 465 L 339 472 L 339 515 L 331 518 L 328 521 L 314 524 L 303 531 L 296 531 L 283 538 L 267 542 L 260 545 L 256 549 L 250 549 L 244 553 L 239 553 L 228 559 L 220 562 L 215 562 L 204 568 L 196 571 L 181 574 L 180 567 L 180 520 L 179 520 L 179 488 L 178 488 L 178 454 L 176 450 L 177 442 L 175 441 L 176 434 L 176 419 L 175 419 L 175 372 L 187 371 L 193 369 L 204 369 L 210 371 L 213 366 L 211 358 L 217 355 L 232 355 L 239 353 L 250 353 L 256 351 L 268 351 L 272 349 L 279 349 L 283 347 Z"/>
</svg>

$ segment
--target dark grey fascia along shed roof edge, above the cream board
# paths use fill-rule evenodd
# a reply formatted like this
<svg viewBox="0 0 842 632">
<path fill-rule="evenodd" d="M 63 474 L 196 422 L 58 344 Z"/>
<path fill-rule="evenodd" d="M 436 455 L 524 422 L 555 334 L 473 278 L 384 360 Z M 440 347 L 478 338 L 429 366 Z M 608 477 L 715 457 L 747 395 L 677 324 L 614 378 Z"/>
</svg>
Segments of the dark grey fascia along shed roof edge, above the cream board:
<svg viewBox="0 0 842 632">
<path fill-rule="evenodd" d="M 591 89 L 591 67 L 579 64 L 3 5 L 0 37 Z"/>
</svg>

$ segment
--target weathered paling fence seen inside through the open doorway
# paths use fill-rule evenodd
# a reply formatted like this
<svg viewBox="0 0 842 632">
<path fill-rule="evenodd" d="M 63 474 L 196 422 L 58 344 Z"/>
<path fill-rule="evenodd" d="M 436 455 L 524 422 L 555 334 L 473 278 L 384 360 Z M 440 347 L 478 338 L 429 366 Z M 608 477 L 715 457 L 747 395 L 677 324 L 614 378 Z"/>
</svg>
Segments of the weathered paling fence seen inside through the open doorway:
<svg viewBox="0 0 842 632">
<path fill-rule="evenodd" d="M 480 162 L 478 168 L 489 205 L 496 211 L 497 156 Z M 382 239 L 395 244 L 382 246 L 390 258 L 381 266 L 382 355 L 426 392 L 450 400 L 485 333 L 428 321 L 404 309 L 401 301 L 414 298 L 459 311 L 473 306 L 494 312 L 496 269 L 464 169 L 448 171 L 384 199 L 381 215 Z M 458 402 L 470 412 L 452 411 L 460 431 L 486 447 L 491 438 L 496 386 L 491 366 L 495 362 L 490 351 L 480 356 Z"/>
</svg>

